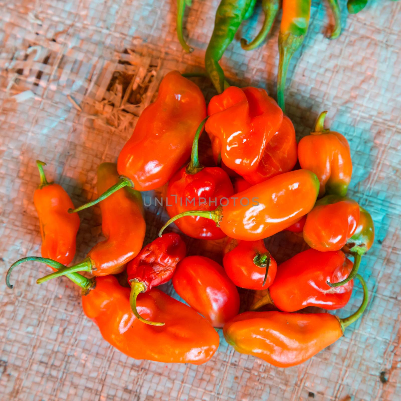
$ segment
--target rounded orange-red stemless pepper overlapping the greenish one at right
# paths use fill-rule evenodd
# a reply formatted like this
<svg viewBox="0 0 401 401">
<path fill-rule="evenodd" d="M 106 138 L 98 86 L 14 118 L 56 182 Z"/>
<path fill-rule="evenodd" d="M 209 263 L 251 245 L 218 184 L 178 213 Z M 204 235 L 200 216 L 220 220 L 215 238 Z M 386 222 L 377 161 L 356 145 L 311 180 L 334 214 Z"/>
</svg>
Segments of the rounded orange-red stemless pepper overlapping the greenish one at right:
<svg viewBox="0 0 401 401">
<path fill-rule="evenodd" d="M 354 235 L 359 218 L 359 205 L 352 199 L 324 196 L 306 217 L 304 240 L 318 251 L 338 251 Z"/>
</svg>

